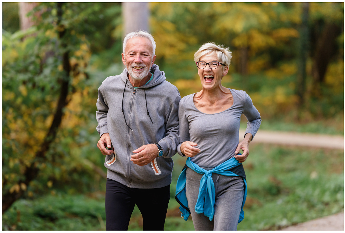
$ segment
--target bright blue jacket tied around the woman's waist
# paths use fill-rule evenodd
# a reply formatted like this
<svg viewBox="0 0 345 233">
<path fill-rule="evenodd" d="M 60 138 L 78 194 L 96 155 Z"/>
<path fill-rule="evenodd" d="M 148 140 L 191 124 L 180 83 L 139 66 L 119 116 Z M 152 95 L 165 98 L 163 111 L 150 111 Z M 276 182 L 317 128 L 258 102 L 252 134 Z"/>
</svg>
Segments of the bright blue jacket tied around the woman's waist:
<svg viewBox="0 0 345 233">
<path fill-rule="evenodd" d="M 188 220 L 190 215 L 190 210 L 188 209 L 188 201 L 186 197 L 186 170 L 188 168 L 192 169 L 193 171 L 204 174 L 200 180 L 200 188 L 198 199 L 195 205 L 195 212 L 198 214 L 204 213 L 205 216 L 209 217 L 210 221 L 213 220 L 213 216 L 215 213 L 214 205 L 215 205 L 215 185 L 212 180 L 212 173 L 220 174 L 220 175 L 227 175 L 227 176 L 240 176 L 243 177 L 243 181 L 245 184 L 243 202 L 241 207 L 241 212 L 239 215 L 238 223 L 240 223 L 244 218 L 243 206 L 246 201 L 247 197 L 247 182 L 246 182 L 246 175 L 244 173 L 242 163 L 239 163 L 235 158 L 231 158 L 224 163 L 216 166 L 212 170 L 205 170 L 200 168 L 197 164 L 190 161 L 190 158 L 187 158 L 186 166 L 182 170 L 180 176 L 177 180 L 176 185 L 176 201 L 180 204 L 180 211 L 181 216 L 184 220 Z"/>
</svg>

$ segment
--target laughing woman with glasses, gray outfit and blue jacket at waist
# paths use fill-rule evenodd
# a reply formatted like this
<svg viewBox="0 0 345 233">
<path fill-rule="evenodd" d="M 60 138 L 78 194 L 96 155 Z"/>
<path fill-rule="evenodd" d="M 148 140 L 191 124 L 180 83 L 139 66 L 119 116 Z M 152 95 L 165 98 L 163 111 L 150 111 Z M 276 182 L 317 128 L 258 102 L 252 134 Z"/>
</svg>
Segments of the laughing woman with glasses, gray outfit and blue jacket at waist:
<svg viewBox="0 0 345 233">
<path fill-rule="evenodd" d="M 181 205 L 181 216 L 187 220 L 191 214 L 195 230 L 237 230 L 244 217 L 247 188 L 242 162 L 249 155 L 249 142 L 261 118 L 245 91 L 221 85 L 231 57 L 228 48 L 202 45 L 194 61 L 203 90 L 179 103 L 177 150 L 188 158 L 175 198 Z M 242 114 L 248 124 L 244 139 L 238 143 Z"/>
</svg>

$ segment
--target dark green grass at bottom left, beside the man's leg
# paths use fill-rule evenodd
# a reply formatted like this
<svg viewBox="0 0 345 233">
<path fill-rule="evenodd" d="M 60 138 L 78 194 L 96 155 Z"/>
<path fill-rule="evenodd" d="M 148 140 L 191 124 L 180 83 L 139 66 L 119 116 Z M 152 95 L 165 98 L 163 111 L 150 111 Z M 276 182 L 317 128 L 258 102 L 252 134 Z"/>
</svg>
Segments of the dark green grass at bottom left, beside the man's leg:
<svg viewBox="0 0 345 233">
<path fill-rule="evenodd" d="M 15 202 L 2 214 L 2 230 L 105 230 L 105 196 L 47 195 Z"/>
</svg>

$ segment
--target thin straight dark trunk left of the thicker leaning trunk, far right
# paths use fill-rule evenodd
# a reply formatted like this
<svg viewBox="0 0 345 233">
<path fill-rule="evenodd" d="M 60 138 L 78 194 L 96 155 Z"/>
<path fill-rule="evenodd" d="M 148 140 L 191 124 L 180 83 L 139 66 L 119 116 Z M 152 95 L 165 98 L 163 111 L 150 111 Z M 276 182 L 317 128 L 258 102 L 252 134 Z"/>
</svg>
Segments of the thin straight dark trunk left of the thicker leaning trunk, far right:
<svg viewBox="0 0 345 233">
<path fill-rule="evenodd" d="M 308 55 L 308 11 L 309 3 L 302 3 L 302 25 L 299 33 L 299 48 L 298 48 L 298 72 L 297 72 L 297 95 L 298 108 L 304 104 L 304 93 L 306 87 L 306 63 Z"/>
</svg>

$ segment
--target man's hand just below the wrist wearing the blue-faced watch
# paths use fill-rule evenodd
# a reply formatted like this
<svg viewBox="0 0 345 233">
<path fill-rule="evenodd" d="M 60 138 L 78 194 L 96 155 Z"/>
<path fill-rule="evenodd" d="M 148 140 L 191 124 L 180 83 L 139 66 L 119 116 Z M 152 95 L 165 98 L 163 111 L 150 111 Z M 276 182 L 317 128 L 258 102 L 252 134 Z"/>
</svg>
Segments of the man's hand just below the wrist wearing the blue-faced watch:
<svg viewBox="0 0 345 233">
<path fill-rule="evenodd" d="M 145 166 L 157 158 L 158 146 L 155 144 L 147 144 L 140 146 L 138 149 L 132 151 L 130 161 L 139 166 Z"/>
</svg>

